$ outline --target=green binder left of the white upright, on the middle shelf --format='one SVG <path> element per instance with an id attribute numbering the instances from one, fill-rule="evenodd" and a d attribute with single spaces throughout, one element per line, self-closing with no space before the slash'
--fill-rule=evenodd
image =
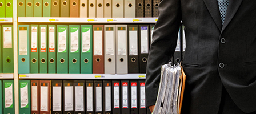
<path id="1" fill-rule="evenodd" d="M 14 72 L 14 56 L 13 56 L 13 25 L 3 25 L 2 36 L 2 64 L 3 73 Z"/>

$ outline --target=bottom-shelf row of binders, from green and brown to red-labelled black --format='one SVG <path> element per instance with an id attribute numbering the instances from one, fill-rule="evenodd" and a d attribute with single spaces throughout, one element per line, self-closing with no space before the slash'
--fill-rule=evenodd
<path id="1" fill-rule="evenodd" d="M 23 114 L 146 114 L 145 98 L 144 80 L 19 80 Z"/>

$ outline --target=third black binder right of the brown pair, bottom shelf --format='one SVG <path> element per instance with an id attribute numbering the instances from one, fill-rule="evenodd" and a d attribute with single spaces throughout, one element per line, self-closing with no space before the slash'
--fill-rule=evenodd
<path id="1" fill-rule="evenodd" d="M 85 81 L 84 80 L 75 80 L 74 81 L 75 89 L 75 114 L 85 114 Z"/>

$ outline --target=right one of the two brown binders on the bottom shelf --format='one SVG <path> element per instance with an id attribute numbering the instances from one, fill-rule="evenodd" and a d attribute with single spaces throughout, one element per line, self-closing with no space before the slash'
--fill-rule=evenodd
<path id="1" fill-rule="evenodd" d="M 40 114 L 51 113 L 51 81 L 40 80 Z"/>

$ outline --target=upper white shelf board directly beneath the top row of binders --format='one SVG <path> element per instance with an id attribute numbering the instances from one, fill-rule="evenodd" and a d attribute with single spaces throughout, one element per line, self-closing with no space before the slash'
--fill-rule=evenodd
<path id="1" fill-rule="evenodd" d="M 54 23 L 155 23 L 158 18 L 54 18 L 19 17 L 18 22 L 54 22 Z"/>

